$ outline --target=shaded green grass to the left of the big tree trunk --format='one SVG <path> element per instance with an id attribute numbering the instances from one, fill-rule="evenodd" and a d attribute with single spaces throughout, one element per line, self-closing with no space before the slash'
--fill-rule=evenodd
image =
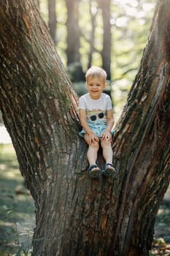
<path id="1" fill-rule="evenodd" d="M 0 145 L 0 195 L 0 255 L 28 255 L 35 207 L 12 144 Z"/>

